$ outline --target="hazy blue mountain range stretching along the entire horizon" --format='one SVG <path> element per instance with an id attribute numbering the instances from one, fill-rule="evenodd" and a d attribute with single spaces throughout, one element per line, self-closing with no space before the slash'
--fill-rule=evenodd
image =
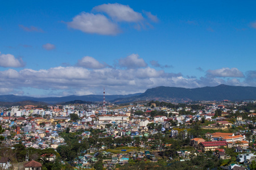
<path id="1" fill-rule="evenodd" d="M 171 103 L 184 103 L 185 101 L 241 101 L 241 100 L 255 100 L 256 87 L 242 87 L 242 86 L 227 86 L 221 84 L 216 87 L 201 87 L 201 88 L 180 88 L 180 87 L 155 87 L 146 90 L 142 94 L 131 95 L 106 95 L 106 101 L 112 103 L 127 103 L 142 100 L 159 100 Z M 2 95 L 1 102 L 19 102 L 19 101 L 40 101 L 48 104 L 63 103 L 73 100 L 82 101 L 102 101 L 103 95 L 85 95 L 85 96 L 64 96 L 64 97 L 30 97 L 30 96 L 15 96 Z"/>

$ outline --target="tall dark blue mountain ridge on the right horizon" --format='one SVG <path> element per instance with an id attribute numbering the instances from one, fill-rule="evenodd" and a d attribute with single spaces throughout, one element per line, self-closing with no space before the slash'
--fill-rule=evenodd
<path id="1" fill-rule="evenodd" d="M 221 84 L 216 87 L 201 88 L 180 88 L 180 87 L 155 87 L 150 88 L 139 96 L 133 96 L 125 99 L 117 99 L 113 102 L 125 103 L 139 100 L 159 100 L 174 103 L 183 103 L 185 101 L 241 101 L 256 100 L 256 87 L 227 86 Z"/>

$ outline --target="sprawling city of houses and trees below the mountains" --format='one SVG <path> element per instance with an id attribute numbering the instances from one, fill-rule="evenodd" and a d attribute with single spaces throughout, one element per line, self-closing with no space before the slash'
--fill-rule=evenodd
<path id="1" fill-rule="evenodd" d="M 1 107 L 2 148 L 22 145 L 27 152 L 22 162 L 1 155 L 0 166 L 43 169 L 46 161 L 59 159 L 61 169 L 122 169 L 145 161 L 164 162 L 164 167 L 171 168 L 199 156 L 214 156 L 217 168 L 250 169 L 256 165 L 256 113 L 248 110 L 249 103 L 255 107 L 254 101 L 200 101 L 172 107 L 154 101 L 108 103 L 106 110 L 102 104 Z M 80 146 L 72 159 L 64 158 L 62 150 L 72 145 L 67 136 L 71 134 Z M 35 159 L 31 148 L 54 153 Z"/>

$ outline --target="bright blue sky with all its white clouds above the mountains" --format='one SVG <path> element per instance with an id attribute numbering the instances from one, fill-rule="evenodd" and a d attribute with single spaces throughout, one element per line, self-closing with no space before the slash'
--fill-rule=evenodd
<path id="1" fill-rule="evenodd" d="M 255 1 L 5 1 L 0 95 L 256 86 Z"/>

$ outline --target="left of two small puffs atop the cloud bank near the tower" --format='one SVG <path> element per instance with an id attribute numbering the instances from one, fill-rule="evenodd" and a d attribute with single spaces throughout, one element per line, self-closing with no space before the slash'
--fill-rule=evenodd
<path id="1" fill-rule="evenodd" d="M 85 56 L 77 62 L 77 66 L 85 67 L 88 69 L 102 69 L 104 64 L 98 62 L 96 59 L 90 56 Z"/>

